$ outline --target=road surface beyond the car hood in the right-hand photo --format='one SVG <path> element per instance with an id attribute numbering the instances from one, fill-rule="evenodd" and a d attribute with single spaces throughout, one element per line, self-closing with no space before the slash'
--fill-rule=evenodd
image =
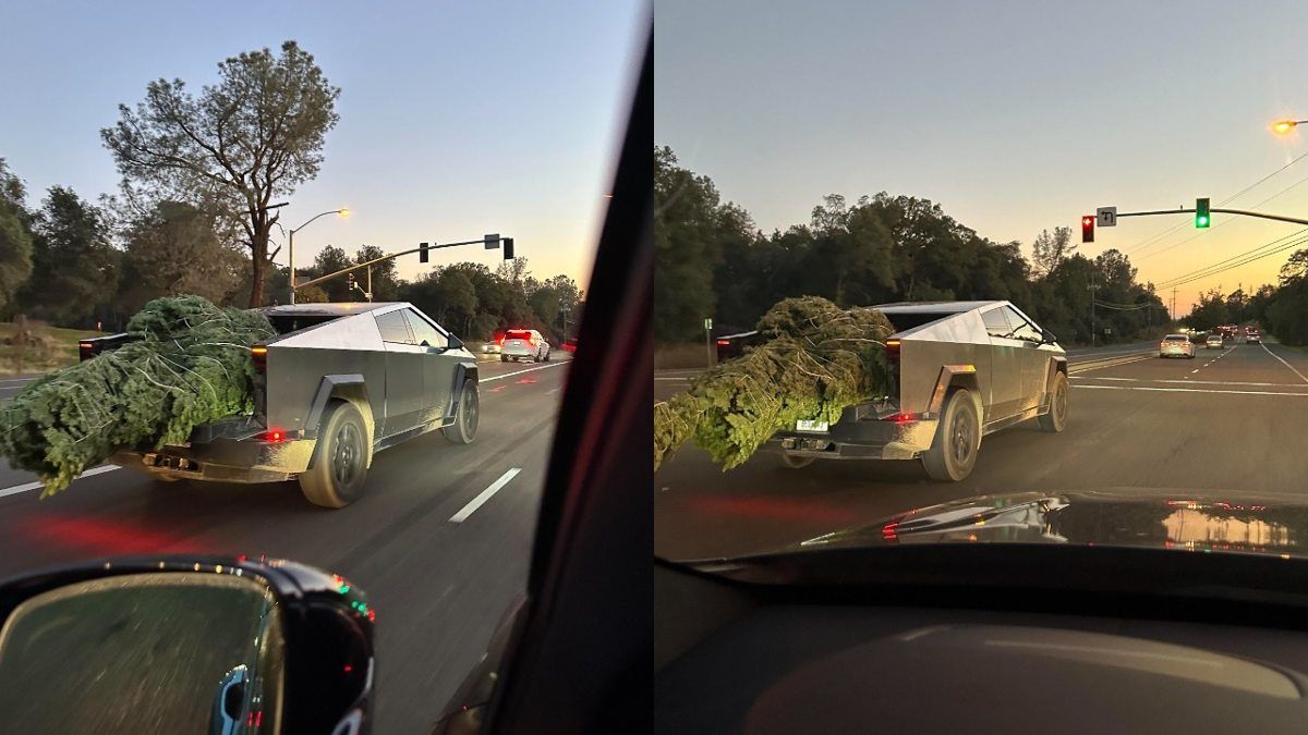
<path id="1" fill-rule="evenodd" d="M 1308 353 L 1283 345 L 1196 345 L 1158 357 L 1154 341 L 1069 356 L 1067 429 L 1033 422 L 982 441 L 963 483 L 933 483 L 917 462 L 818 462 L 760 453 L 723 473 L 687 446 L 654 476 L 655 552 L 708 558 L 765 552 L 956 498 L 1022 490 L 1177 488 L 1308 492 Z M 655 398 L 685 373 L 655 377 Z M 1308 500 L 1308 494 L 1305 494 Z"/>

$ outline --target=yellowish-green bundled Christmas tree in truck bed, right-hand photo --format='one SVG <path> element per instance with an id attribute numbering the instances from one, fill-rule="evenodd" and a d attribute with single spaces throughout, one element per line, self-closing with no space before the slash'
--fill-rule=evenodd
<path id="1" fill-rule="evenodd" d="M 795 421 L 835 424 L 845 408 L 889 388 L 884 340 L 893 330 L 879 311 L 787 298 L 759 330 L 766 341 L 654 405 L 655 470 L 688 439 L 730 470 Z"/>

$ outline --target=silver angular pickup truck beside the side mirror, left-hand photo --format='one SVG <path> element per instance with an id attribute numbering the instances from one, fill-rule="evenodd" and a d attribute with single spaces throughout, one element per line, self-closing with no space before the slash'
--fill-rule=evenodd
<path id="1" fill-rule="evenodd" d="M 314 505 L 343 507 L 362 496 L 377 453 L 437 429 L 454 443 L 476 438 L 476 356 L 413 305 L 256 311 L 277 336 L 251 348 L 254 412 L 196 426 L 184 446 L 124 450 L 111 463 L 160 480 L 298 480 Z"/>

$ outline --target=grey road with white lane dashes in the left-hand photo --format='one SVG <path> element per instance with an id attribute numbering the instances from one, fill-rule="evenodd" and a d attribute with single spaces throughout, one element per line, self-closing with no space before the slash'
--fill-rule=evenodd
<path id="1" fill-rule="evenodd" d="M 480 362 L 476 441 L 453 445 L 436 432 L 377 455 L 368 494 L 341 510 L 309 505 L 294 483 L 154 483 L 131 470 L 84 475 L 41 500 L 33 475 L 5 468 L 0 575 L 191 552 L 268 555 L 343 574 L 377 609 L 375 731 L 424 732 L 526 583 L 568 371 L 561 350 L 549 364 Z M 0 399 L 14 385 L 0 383 Z"/>

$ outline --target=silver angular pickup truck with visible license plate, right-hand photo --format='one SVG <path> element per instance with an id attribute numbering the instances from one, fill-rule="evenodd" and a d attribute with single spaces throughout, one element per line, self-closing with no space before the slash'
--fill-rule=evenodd
<path id="1" fill-rule="evenodd" d="M 895 327 L 886 340 L 892 395 L 846 408 L 840 421 L 799 421 L 769 447 L 786 467 L 835 459 L 921 460 L 933 480 L 972 473 L 982 437 L 1036 419 L 1067 422 L 1067 356 L 1053 333 L 1008 301 L 874 306 Z"/>

